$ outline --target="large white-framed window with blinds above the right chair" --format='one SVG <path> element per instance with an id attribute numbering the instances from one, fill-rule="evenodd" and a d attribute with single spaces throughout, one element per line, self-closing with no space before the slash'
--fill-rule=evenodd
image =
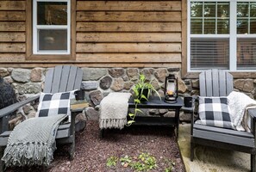
<path id="1" fill-rule="evenodd" d="M 256 0 L 188 1 L 188 71 L 256 70 Z"/>

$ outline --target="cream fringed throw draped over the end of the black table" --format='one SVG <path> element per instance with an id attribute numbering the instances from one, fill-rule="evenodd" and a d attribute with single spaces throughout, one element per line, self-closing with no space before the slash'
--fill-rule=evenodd
<path id="1" fill-rule="evenodd" d="M 99 126 L 122 129 L 127 124 L 128 99 L 130 93 L 109 93 L 100 104 Z"/>

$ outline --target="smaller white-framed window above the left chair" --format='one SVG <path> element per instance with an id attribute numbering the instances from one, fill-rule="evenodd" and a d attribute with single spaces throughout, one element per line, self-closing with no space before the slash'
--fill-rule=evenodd
<path id="1" fill-rule="evenodd" d="M 33 0 L 33 53 L 70 54 L 70 0 Z"/>

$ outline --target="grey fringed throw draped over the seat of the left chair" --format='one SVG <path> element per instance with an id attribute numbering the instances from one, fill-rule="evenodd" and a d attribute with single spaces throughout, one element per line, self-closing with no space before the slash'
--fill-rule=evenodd
<path id="1" fill-rule="evenodd" d="M 9 135 L 2 160 L 6 166 L 49 165 L 56 149 L 55 136 L 66 114 L 33 118 L 17 125 Z"/>

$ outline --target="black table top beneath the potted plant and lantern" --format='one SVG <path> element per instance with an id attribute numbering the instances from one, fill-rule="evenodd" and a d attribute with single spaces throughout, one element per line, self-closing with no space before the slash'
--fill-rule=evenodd
<path id="1" fill-rule="evenodd" d="M 130 98 L 128 101 L 129 107 L 134 107 L 134 98 Z M 142 101 L 138 104 L 138 108 L 180 108 L 184 106 L 183 99 L 178 97 L 177 102 L 168 103 L 165 102 L 165 98 L 161 97 L 161 100 L 158 96 L 150 96 L 148 101 Z"/>

